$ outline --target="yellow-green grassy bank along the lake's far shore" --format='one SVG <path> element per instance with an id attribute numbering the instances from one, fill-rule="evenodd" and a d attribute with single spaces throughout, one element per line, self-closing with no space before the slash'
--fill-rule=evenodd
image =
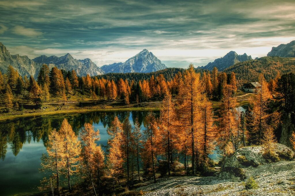
<path id="1" fill-rule="evenodd" d="M 240 95 L 238 93 L 238 95 Z M 246 95 L 241 98 L 237 98 L 237 101 L 240 106 L 248 104 L 248 98 L 252 96 Z M 18 100 L 19 103 L 22 103 L 23 100 Z M 91 111 L 150 111 L 150 110 L 160 110 L 161 101 L 154 102 L 145 102 L 145 103 L 131 103 L 129 106 L 126 106 L 122 101 L 116 102 L 107 102 L 107 101 L 97 101 L 95 106 L 83 106 L 80 107 L 78 102 L 88 103 L 93 102 L 88 95 L 71 95 L 68 96 L 67 103 L 63 105 L 61 98 L 53 97 L 50 98 L 50 101 L 42 105 L 42 109 L 32 110 L 24 109 L 23 111 L 18 111 L 11 109 L 9 113 L 0 113 L 0 120 L 26 117 L 26 116 L 38 116 L 38 115 L 52 115 L 58 113 L 83 113 Z M 213 108 L 219 108 L 220 102 L 212 101 Z M 44 108 L 46 107 L 46 108 Z M 0 110 L 4 107 L 0 107 Z"/>

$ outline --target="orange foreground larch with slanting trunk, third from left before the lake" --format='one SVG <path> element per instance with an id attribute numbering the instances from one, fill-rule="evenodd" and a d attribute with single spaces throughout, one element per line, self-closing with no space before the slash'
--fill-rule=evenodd
<path id="1" fill-rule="evenodd" d="M 83 163 L 82 166 L 82 173 L 84 174 L 84 177 L 89 182 L 89 187 L 92 188 L 94 195 L 97 196 L 93 181 L 93 176 L 96 176 L 96 162 L 94 161 L 94 154 L 96 152 L 96 141 L 98 141 L 99 138 L 99 130 L 94 131 L 94 126 L 92 126 L 89 123 L 85 123 L 83 128 L 80 132 L 80 138 L 81 138 L 81 162 Z"/>

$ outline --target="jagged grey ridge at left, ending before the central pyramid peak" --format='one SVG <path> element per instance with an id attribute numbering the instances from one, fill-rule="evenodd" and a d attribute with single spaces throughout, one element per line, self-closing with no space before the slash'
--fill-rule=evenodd
<path id="1" fill-rule="evenodd" d="M 77 60 L 68 53 L 62 57 L 41 55 L 31 60 L 27 56 L 11 55 L 0 42 L 0 71 L 2 73 L 6 73 L 8 65 L 12 65 L 20 75 L 32 75 L 37 78 L 42 64 L 47 64 L 49 69 L 56 66 L 67 71 L 75 70 L 79 76 L 104 74 L 90 59 Z"/>

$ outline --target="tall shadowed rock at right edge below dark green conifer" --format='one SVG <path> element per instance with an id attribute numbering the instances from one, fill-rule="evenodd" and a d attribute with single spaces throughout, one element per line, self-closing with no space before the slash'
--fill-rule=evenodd
<path id="1" fill-rule="evenodd" d="M 283 118 L 282 123 L 282 133 L 280 138 L 280 143 L 284 144 L 290 148 L 292 148 L 290 138 L 292 136 L 292 133 L 295 132 L 295 125 L 294 120 L 292 121 L 292 116 L 294 118 L 294 113 L 288 113 Z"/>

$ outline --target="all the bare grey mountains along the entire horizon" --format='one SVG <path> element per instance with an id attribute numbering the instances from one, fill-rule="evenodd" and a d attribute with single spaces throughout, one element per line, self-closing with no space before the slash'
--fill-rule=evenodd
<path id="1" fill-rule="evenodd" d="M 268 52 L 267 56 L 295 57 L 295 40 L 288 44 L 272 47 L 271 52 Z M 197 67 L 197 69 L 212 70 L 213 67 L 217 67 L 219 71 L 222 71 L 249 60 L 252 60 L 252 57 L 246 53 L 238 55 L 236 52 L 230 51 L 224 57 L 215 59 L 214 62 L 209 62 L 206 66 Z M 255 60 L 259 59 L 255 58 Z M 61 57 L 41 55 L 32 60 L 27 56 L 11 55 L 0 42 L 0 71 L 2 73 L 6 72 L 8 65 L 12 65 L 20 75 L 33 75 L 34 78 L 37 78 L 42 64 L 47 64 L 50 69 L 56 66 L 59 69 L 75 70 L 79 76 L 87 74 L 95 76 L 105 73 L 150 73 L 167 68 L 152 52 L 146 49 L 129 58 L 124 63 L 113 63 L 99 68 L 91 59 L 77 60 L 69 53 Z"/>

